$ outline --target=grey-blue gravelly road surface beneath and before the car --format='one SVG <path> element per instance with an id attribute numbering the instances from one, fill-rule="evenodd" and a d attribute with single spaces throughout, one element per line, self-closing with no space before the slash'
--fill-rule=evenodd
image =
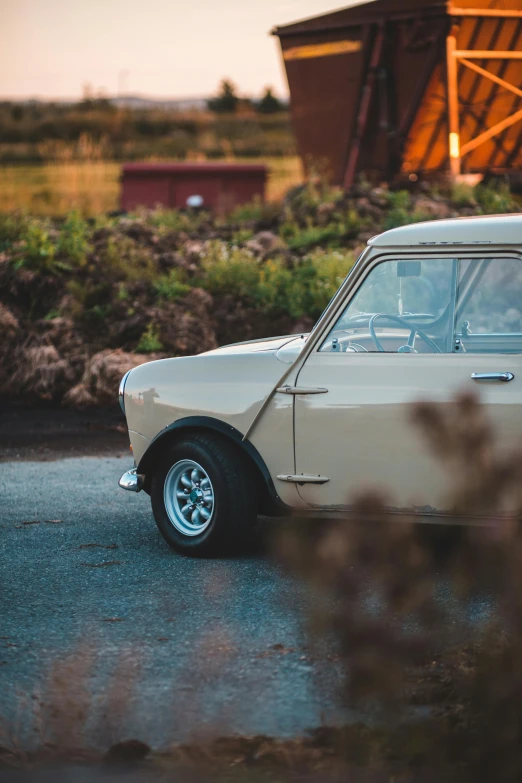
<path id="1" fill-rule="evenodd" d="M 0 464 L 1 712 L 17 736 L 39 736 L 42 711 L 68 699 L 102 747 L 293 736 L 341 719 L 335 666 L 305 646 L 302 588 L 262 547 L 171 552 L 148 496 L 118 489 L 128 466 Z"/>

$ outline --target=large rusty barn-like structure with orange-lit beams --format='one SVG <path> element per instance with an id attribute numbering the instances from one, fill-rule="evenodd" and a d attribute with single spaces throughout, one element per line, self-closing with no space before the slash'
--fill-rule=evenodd
<path id="1" fill-rule="evenodd" d="M 305 165 L 522 169 L 522 0 L 374 0 L 278 27 Z"/>

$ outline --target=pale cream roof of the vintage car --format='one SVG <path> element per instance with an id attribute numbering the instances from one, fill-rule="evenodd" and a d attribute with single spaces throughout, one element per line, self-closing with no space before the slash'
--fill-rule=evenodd
<path id="1" fill-rule="evenodd" d="M 432 220 L 392 228 L 373 239 L 373 247 L 398 245 L 522 245 L 522 214 Z"/>

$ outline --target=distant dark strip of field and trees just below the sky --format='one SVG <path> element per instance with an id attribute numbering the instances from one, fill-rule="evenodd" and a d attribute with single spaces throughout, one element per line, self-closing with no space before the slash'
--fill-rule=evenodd
<path id="1" fill-rule="evenodd" d="M 0 163 L 70 158 L 81 152 L 85 140 L 103 159 L 116 161 L 296 154 L 289 112 L 274 103 L 271 93 L 259 104 L 235 94 L 230 105 L 223 104 L 222 95 L 215 100 L 217 106 L 209 102 L 213 109 L 184 111 L 92 98 L 69 105 L 0 102 Z"/>

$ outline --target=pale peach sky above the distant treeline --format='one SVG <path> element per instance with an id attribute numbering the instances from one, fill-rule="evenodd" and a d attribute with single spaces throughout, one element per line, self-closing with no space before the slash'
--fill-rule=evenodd
<path id="1" fill-rule="evenodd" d="M 0 96 L 207 96 L 287 84 L 270 29 L 355 0 L 0 0 Z"/>

